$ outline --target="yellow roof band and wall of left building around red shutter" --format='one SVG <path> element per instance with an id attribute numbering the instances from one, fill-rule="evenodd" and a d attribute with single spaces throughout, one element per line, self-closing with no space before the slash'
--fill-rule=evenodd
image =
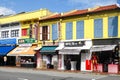
<path id="1" fill-rule="evenodd" d="M 47 9 L 40 9 L 32 12 L 20 13 L 16 15 L 3 16 L 0 18 L 0 24 L 11 23 L 11 22 L 20 22 L 21 29 L 29 29 L 30 24 L 34 24 L 34 20 L 39 20 L 46 15 L 52 14 Z M 24 24 L 26 21 L 31 21 L 31 23 Z M 34 26 L 33 26 L 34 27 Z M 29 38 L 29 34 L 22 36 L 21 38 Z"/>

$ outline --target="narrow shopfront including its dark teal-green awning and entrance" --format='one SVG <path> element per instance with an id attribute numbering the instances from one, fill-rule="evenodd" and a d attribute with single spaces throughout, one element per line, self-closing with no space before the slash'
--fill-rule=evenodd
<path id="1" fill-rule="evenodd" d="M 43 69 L 57 69 L 58 52 L 55 50 L 57 47 L 58 46 L 42 46 L 40 49 Z"/>

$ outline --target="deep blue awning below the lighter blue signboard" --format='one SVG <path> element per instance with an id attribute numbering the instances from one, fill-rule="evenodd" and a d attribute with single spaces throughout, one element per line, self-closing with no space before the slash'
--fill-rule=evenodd
<path id="1" fill-rule="evenodd" d="M 13 50 L 15 46 L 0 46 L 0 56 L 7 55 L 8 52 Z"/>

